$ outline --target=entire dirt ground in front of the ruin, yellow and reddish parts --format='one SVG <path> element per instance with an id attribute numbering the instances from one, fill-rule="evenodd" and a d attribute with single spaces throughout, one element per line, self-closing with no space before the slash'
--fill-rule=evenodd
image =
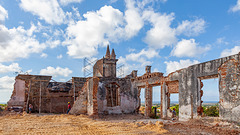
<path id="1" fill-rule="evenodd" d="M 0 116 L 0 134 L 233 134 L 238 127 L 221 122 L 193 120 L 177 122 L 149 119 L 142 115 L 7 114 Z"/>

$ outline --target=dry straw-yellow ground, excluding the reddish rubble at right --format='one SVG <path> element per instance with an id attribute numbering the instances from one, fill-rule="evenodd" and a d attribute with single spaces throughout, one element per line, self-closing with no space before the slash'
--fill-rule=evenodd
<path id="1" fill-rule="evenodd" d="M 161 123 L 144 124 L 94 120 L 85 115 L 0 116 L 0 134 L 131 135 L 167 133 Z"/>

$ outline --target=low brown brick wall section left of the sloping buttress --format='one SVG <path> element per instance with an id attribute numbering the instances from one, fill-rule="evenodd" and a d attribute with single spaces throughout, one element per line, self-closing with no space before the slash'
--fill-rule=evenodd
<path id="1" fill-rule="evenodd" d="M 67 103 L 70 102 L 71 105 L 74 103 L 74 95 L 78 96 L 78 91 L 86 79 L 73 78 L 75 94 L 74 87 L 71 87 L 69 91 L 64 91 L 65 86 L 61 86 L 64 87 L 61 91 L 52 90 L 48 86 L 50 80 L 51 76 L 18 75 L 8 107 L 21 106 L 24 110 L 28 110 L 27 106 L 32 104 L 33 112 L 66 113 Z M 21 93 L 21 97 L 18 93 Z"/>

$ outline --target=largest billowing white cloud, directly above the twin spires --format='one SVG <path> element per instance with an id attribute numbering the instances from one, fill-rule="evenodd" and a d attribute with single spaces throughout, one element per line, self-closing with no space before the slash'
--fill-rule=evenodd
<path id="1" fill-rule="evenodd" d="M 125 0 L 123 13 L 112 6 L 83 14 L 83 19 L 72 22 L 66 29 L 67 54 L 74 58 L 92 57 L 99 47 L 110 42 L 128 40 L 136 36 L 144 22 L 141 11 L 133 0 Z"/>

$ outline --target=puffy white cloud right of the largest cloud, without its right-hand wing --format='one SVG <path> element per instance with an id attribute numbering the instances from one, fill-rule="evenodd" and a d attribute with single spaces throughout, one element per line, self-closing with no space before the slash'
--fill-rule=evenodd
<path id="1" fill-rule="evenodd" d="M 174 14 L 160 14 L 153 11 L 144 11 L 143 18 L 152 23 L 144 41 L 153 48 L 161 49 L 177 42 L 176 32 L 170 27 Z"/>

